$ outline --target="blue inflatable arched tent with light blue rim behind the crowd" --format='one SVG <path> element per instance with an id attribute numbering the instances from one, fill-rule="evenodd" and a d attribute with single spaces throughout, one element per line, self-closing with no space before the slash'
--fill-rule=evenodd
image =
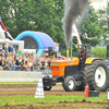
<path id="1" fill-rule="evenodd" d="M 24 49 L 36 49 L 38 57 L 40 57 L 43 50 L 48 49 L 48 47 L 55 47 L 55 49 L 57 49 L 52 38 L 40 32 L 25 31 L 21 33 L 15 40 L 24 40 Z"/>

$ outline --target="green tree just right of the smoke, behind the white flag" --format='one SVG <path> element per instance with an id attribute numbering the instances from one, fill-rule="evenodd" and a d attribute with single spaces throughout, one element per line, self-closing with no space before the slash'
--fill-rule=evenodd
<path id="1" fill-rule="evenodd" d="M 88 15 L 82 20 L 80 28 L 83 44 L 96 46 L 101 43 L 104 29 L 99 27 L 99 15 L 93 7 L 89 7 Z"/>

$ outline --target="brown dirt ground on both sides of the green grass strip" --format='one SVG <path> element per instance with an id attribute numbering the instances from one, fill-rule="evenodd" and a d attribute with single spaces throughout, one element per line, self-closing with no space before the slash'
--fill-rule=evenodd
<path id="1" fill-rule="evenodd" d="M 14 85 L 0 85 L 0 96 L 24 96 L 24 95 L 35 95 L 37 85 L 35 84 L 14 84 Z M 106 95 L 107 93 L 100 93 L 100 95 Z M 83 95 L 83 92 L 64 92 L 61 84 L 57 84 L 51 88 L 50 92 L 45 92 L 45 95 L 57 95 L 57 96 L 63 96 L 63 95 Z M 75 108 L 84 107 L 84 108 Z M 108 109 L 105 107 L 108 107 L 109 102 L 92 102 L 86 101 L 83 99 L 83 101 L 60 101 L 58 104 L 35 104 L 35 105 L 16 105 L 16 106 L 10 106 L 5 104 L 4 106 L 0 106 L 0 109 Z M 87 108 L 88 107 L 88 108 Z M 97 108 L 99 107 L 99 108 Z"/>

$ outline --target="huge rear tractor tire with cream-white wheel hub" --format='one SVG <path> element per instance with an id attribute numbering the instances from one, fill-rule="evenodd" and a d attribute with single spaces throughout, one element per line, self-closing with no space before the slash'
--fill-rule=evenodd
<path id="1" fill-rule="evenodd" d="M 105 92 L 109 86 L 108 66 L 102 60 L 95 60 L 90 65 L 86 65 L 83 72 L 84 87 L 86 83 L 89 89 Z"/>

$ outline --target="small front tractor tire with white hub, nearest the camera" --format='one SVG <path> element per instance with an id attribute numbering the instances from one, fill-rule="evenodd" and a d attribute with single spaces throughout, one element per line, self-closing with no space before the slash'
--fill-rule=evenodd
<path id="1" fill-rule="evenodd" d="M 64 82 L 62 83 L 63 88 L 65 92 L 73 92 L 75 88 L 75 81 L 73 76 L 68 76 L 64 78 Z"/>

